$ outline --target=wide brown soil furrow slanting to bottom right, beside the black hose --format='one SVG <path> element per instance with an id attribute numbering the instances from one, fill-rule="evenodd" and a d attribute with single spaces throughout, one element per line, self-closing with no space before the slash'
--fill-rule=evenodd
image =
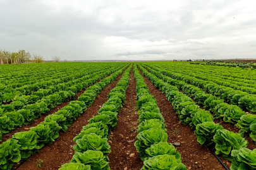
<path id="1" fill-rule="evenodd" d="M 176 149 L 180 152 L 181 160 L 187 166 L 187 169 L 224 169 L 210 150 L 197 142 L 197 137 L 194 135 L 193 130 L 188 125 L 181 124 L 178 115 L 176 115 L 166 96 L 159 89 L 156 89 L 149 79 L 145 76 L 143 78 L 150 93 L 157 100 L 157 106 L 159 106 L 165 123 L 168 125 L 166 127 L 168 130 L 168 142 L 172 144 L 179 142 L 181 144 Z M 176 133 L 176 130 L 180 130 L 180 132 Z"/>

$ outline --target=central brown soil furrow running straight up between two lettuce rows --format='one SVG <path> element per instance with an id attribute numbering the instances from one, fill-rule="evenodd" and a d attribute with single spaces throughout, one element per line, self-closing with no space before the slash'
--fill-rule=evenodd
<path id="1" fill-rule="evenodd" d="M 109 140 L 109 145 L 111 145 L 109 166 L 111 169 L 141 169 L 143 166 L 140 155 L 134 146 L 138 128 L 135 88 L 134 74 L 131 70 L 125 104 L 118 114 L 118 124 L 111 132 L 113 139 Z"/>

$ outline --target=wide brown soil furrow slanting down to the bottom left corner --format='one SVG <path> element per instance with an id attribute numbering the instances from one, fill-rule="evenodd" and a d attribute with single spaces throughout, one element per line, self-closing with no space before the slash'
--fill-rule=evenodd
<path id="1" fill-rule="evenodd" d="M 127 68 L 126 68 L 127 69 Z M 52 144 L 44 146 L 39 150 L 38 153 L 30 156 L 27 161 L 25 161 L 19 170 L 34 170 L 34 169 L 59 169 L 61 165 L 70 162 L 74 150 L 72 149 L 75 142 L 73 138 L 80 133 L 82 127 L 88 124 L 88 120 L 93 116 L 97 115 L 97 111 L 101 106 L 107 101 L 107 94 L 116 86 L 116 83 L 121 79 L 121 75 L 117 77 L 114 82 L 111 82 L 108 86 L 102 89 L 101 93 L 96 96 L 94 103 L 83 111 L 83 114 L 76 118 L 76 121 L 68 127 L 66 132 L 59 132 L 59 138 L 56 139 Z M 39 159 L 43 160 L 42 167 L 37 167 L 37 162 Z"/>

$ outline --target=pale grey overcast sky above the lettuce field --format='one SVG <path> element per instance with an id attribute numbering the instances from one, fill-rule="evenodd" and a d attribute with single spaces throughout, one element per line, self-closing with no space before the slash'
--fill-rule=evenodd
<path id="1" fill-rule="evenodd" d="M 67 60 L 256 58 L 255 0 L 0 0 L 0 48 Z"/>

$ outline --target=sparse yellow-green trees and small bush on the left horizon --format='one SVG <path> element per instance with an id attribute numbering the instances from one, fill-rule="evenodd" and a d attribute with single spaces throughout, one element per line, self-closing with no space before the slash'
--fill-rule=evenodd
<path id="1" fill-rule="evenodd" d="M 52 57 L 54 62 L 59 62 L 61 57 Z M 0 49 L 0 64 L 22 64 L 27 62 L 43 62 L 44 57 L 42 55 L 30 54 L 25 50 L 18 50 L 18 52 L 9 52 L 8 50 Z"/>

